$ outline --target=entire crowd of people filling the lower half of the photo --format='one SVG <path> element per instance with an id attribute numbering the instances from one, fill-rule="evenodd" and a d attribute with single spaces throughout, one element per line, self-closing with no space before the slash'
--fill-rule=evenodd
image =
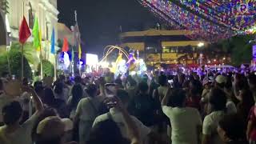
<path id="1" fill-rule="evenodd" d="M 1 144 L 254 144 L 256 75 L 0 79 Z"/>

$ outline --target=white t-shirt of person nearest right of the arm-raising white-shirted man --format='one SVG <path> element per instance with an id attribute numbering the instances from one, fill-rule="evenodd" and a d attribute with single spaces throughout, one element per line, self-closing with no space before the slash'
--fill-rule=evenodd
<path id="1" fill-rule="evenodd" d="M 214 111 L 208 115 L 206 115 L 206 118 L 203 121 L 202 124 L 202 134 L 210 135 L 211 144 L 220 144 L 222 143 L 221 138 L 218 136 L 217 127 L 218 122 L 220 119 L 224 116 L 225 112 L 220 111 Z"/>

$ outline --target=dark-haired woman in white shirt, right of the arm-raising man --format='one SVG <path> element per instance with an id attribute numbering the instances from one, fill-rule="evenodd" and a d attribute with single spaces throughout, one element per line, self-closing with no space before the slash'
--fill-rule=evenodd
<path id="1" fill-rule="evenodd" d="M 222 143 L 218 136 L 218 122 L 226 113 L 226 95 L 223 90 L 214 88 L 209 94 L 210 114 L 202 124 L 202 144 Z"/>

